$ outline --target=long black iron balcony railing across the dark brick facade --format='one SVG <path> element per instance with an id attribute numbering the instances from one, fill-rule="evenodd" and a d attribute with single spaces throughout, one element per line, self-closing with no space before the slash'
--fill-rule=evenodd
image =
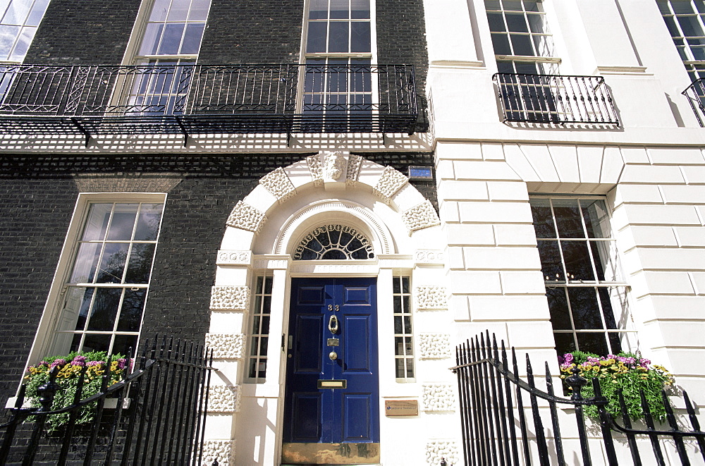
<path id="1" fill-rule="evenodd" d="M 4 134 L 414 133 L 410 65 L 0 65 Z"/>

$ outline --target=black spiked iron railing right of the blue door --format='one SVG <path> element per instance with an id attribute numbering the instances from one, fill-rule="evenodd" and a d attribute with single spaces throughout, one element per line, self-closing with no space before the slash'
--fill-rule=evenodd
<path id="1" fill-rule="evenodd" d="M 678 460 L 682 465 L 703 464 L 700 459 L 705 462 L 705 431 L 700 428 L 687 393 L 683 392 L 685 413 L 682 416 L 687 420 L 680 421 L 689 422 L 692 429 L 681 427 L 665 393 L 663 405 L 668 426 L 658 427 L 654 423 L 642 393 L 646 428 L 635 429 L 623 399 L 622 419 L 615 419 L 607 412 L 608 401 L 601 396 L 598 379 L 592 380 L 596 396 L 583 398 L 580 391 L 587 380 L 578 375 L 579 369 L 574 369 L 573 375 L 566 379 L 572 396 L 562 398 L 554 393 L 548 363 L 547 390 L 541 391 L 534 382 L 529 356 L 524 381 L 514 348 L 511 352 L 512 362 L 509 362 L 504 342 L 498 348 L 494 335 L 490 341 L 489 332 L 455 350 L 457 365 L 451 370 L 458 376 L 465 465 L 529 466 L 533 461 L 541 466 L 618 466 L 627 464 L 631 458 L 632 464 L 640 466 L 642 454 L 653 458 L 653 462 L 644 458 L 644 464 L 665 466 Z M 584 407 L 589 405 L 596 407 L 599 413 L 593 425 L 584 419 Z M 574 433 L 563 434 L 568 431 Z M 690 443 L 689 449 L 686 443 Z M 578 445 L 580 448 L 575 448 Z M 668 453 L 664 453 L 666 448 Z M 651 453 L 644 453 L 644 450 L 651 450 Z M 599 458 L 593 458 L 596 453 Z"/>

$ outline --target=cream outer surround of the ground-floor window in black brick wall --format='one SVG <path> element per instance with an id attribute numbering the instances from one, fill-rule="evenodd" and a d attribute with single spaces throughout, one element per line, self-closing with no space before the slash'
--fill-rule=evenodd
<path id="1" fill-rule="evenodd" d="M 56 267 L 56 273 L 54 274 L 54 280 L 51 283 L 51 288 L 49 288 L 49 295 L 47 297 L 47 302 L 44 305 L 42 318 L 39 320 L 35 341 L 32 343 L 30 356 L 27 360 L 27 367 L 31 364 L 39 362 L 42 360 L 42 357 L 49 356 L 47 352 L 53 344 L 54 330 L 56 329 L 59 319 L 61 318 L 61 306 L 66 293 L 66 281 L 68 281 L 71 275 L 73 261 L 76 253 L 78 252 L 78 240 L 80 240 L 91 204 L 102 202 L 154 202 L 164 203 L 166 206 L 166 194 L 159 192 L 82 192 L 78 195 L 78 200 L 76 201 L 73 209 L 71 223 L 68 226 L 68 232 L 66 233 L 66 238 L 64 239 L 63 247 L 61 248 L 59 264 Z M 164 219 L 164 214 L 162 214 L 162 219 Z M 161 227 L 159 233 L 161 233 Z M 157 248 L 155 248 L 155 255 L 157 254 L 157 250 L 159 248 L 159 233 L 157 235 Z M 152 269 L 152 273 L 153 271 L 154 270 Z M 147 290 L 149 290 L 149 288 L 147 288 Z M 149 293 L 147 293 L 145 306 L 147 300 L 149 300 Z M 142 317 L 142 324 L 143 323 L 144 316 Z M 137 335 L 138 342 L 140 341 L 141 332 L 142 325 L 140 324 L 140 333 Z"/>

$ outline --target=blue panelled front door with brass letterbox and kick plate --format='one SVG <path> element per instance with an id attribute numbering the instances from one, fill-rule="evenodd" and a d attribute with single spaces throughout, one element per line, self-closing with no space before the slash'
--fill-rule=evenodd
<path id="1" fill-rule="evenodd" d="M 283 462 L 379 458 L 376 331 L 376 278 L 293 278 Z"/>

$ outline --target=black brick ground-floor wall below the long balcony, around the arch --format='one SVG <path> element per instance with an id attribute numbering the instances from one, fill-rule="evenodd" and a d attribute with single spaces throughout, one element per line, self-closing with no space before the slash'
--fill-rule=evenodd
<path id="1" fill-rule="evenodd" d="M 259 178 L 307 154 L 201 156 L 6 156 L 0 159 L 0 403 L 12 396 L 35 338 L 79 193 L 76 176 L 104 191 L 168 190 L 143 338 L 202 341 L 209 328 L 216 252 L 231 210 Z M 407 172 L 432 154 L 361 154 Z M 133 174 L 130 174 L 133 173 Z M 152 180 L 152 181 L 150 181 Z M 131 183 L 131 184 L 130 184 Z M 146 184 L 145 184 L 146 183 Z M 433 182 L 415 182 L 437 204 Z"/>

